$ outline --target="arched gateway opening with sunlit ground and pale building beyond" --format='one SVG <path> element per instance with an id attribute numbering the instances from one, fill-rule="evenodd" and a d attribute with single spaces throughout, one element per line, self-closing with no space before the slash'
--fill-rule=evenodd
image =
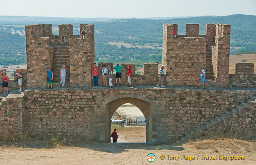
<path id="1" fill-rule="evenodd" d="M 135 105 L 121 105 L 111 118 L 111 132 L 117 129 L 117 142 L 146 142 L 146 118 Z M 111 142 L 113 138 L 111 137 Z"/>

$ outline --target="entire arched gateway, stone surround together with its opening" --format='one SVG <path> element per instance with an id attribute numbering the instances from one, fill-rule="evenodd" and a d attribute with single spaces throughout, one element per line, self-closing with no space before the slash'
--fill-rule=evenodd
<path id="1" fill-rule="evenodd" d="M 130 103 L 130 104 L 126 104 L 126 103 Z M 125 107 L 127 105 L 132 106 L 132 108 L 134 108 L 134 110 L 129 111 L 128 107 Z M 118 99 L 108 102 L 106 104 L 106 114 L 107 115 L 106 115 L 105 141 L 111 142 L 111 134 L 115 129 L 114 127 L 117 127 L 117 125 L 112 124 L 113 122 L 111 119 L 115 119 L 115 111 L 117 111 L 117 109 L 119 107 L 121 107 L 120 109 L 123 109 L 123 113 L 125 113 L 125 111 L 126 111 L 126 114 L 129 114 L 129 116 L 126 115 L 126 117 L 130 117 L 130 118 L 128 118 L 128 121 L 126 121 L 126 117 L 120 118 L 120 119 L 123 119 L 123 121 L 125 120 L 124 126 L 125 126 L 125 124 L 127 124 L 127 122 L 129 122 L 130 128 L 127 126 L 125 126 L 124 128 L 120 128 L 121 123 L 119 123 L 119 126 L 117 128 L 117 129 L 120 129 L 119 133 L 121 133 L 120 134 L 121 136 L 119 136 L 119 137 L 126 138 L 128 142 L 151 142 L 151 139 L 152 139 L 152 109 L 151 109 L 152 105 L 148 101 L 144 101 L 144 100 L 141 100 L 138 98 L 118 98 Z M 120 111 L 120 110 L 118 110 L 118 111 Z M 134 112 L 132 112 L 132 111 L 134 111 Z M 134 113 L 134 115 L 133 115 L 133 113 Z M 145 120 L 143 120 L 143 118 L 139 118 L 139 117 L 144 117 Z M 116 119 L 117 119 L 117 113 L 116 113 Z M 143 132 L 138 133 L 138 136 L 141 137 L 140 141 L 139 140 L 131 140 L 133 134 L 130 135 L 131 136 L 131 138 L 130 138 L 130 137 L 128 137 L 128 132 L 138 129 L 136 127 L 137 127 L 138 122 L 141 123 L 141 120 L 142 120 L 142 123 L 144 123 L 144 121 L 145 121 L 145 126 L 142 126 L 139 128 L 141 130 L 145 129 L 145 134 L 143 135 Z M 111 125 L 112 125 L 112 128 L 111 128 Z M 141 125 L 141 124 L 138 124 L 138 126 L 139 125 Z M 129 129 L 127 129 L 127 128 L 129 128 Z M 134 132 L 137 132 L 137 131 L 133 131 L 133 133 Z M 121 141 L 119 141 L 119 142 L 121 142 Z"/>

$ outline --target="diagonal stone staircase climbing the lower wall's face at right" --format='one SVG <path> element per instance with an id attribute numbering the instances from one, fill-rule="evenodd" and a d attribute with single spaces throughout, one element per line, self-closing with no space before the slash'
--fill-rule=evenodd
<path id="1" fill-rule="evenodd" d="M 226 111 L 220 116 L 215 116 L 215 118 L 211 118 L 211 120 L 206 121 L 204 125 L 197 126 L 195 130 L 191 130 L 190 133 L 186 133 L 184 136 L 181 137 L 181 140 L 177 140 L 176 142 L 180 143 L 181 141 L 185 141 L 187 138 L 190 138 L 193 134 L 197 132 L 205 132 L 205 134 L 209 134 L 210 131 L 220 131 L 219 126 L 227 123 L 230 117 L 245 113 L 246 109 L 249 109 L 250 106 L 256 106 L 256 96 L 248 99 L 247 102 L 242 102 L 242 104 L 236 105 L 235 108 L 231 108 L 231 111 Z"/>

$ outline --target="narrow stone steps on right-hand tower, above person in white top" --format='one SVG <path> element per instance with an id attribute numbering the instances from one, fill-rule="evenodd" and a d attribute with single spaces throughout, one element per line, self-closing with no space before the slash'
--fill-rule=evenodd
<path id="1" fill-rule="evenodd" d="M 213 77 L 213 67 L 212 67 L 212 46 L 206 46 L 206 71 L 205 71 L 205 79 L 206 80 L 215 80 Z"/>

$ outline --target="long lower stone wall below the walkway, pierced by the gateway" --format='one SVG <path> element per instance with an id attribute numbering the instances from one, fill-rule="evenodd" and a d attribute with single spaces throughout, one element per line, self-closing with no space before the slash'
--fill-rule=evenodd
<path id="1" fill-rule="evenodd" d="M 145 115 L 149 136 L 147 141 L 165 143 L 179 140 L 212 118 L 231 111 L 236 105 L 256 96 L 256 91 L 83 88 L 53 91 L 32 89 L 24 94 L 2 101 L 0 127 L 6 128 L 0 131 L 2 138 L 7 138 L 8 132 L 20 132 L 23 128 L 32 134 L 66 132 L 84 141 L 108 142 L 109 118 L 118 106 L 131 103 Z M 216 129 L 254 128 L 255 108 L 255 105 L 248 106 L 229 115 L 229 120 L 221 121 Z M 13 109 L 13 112 L 9 109 Z M 16 126 L 12 121 L 17 122 Z"/>

